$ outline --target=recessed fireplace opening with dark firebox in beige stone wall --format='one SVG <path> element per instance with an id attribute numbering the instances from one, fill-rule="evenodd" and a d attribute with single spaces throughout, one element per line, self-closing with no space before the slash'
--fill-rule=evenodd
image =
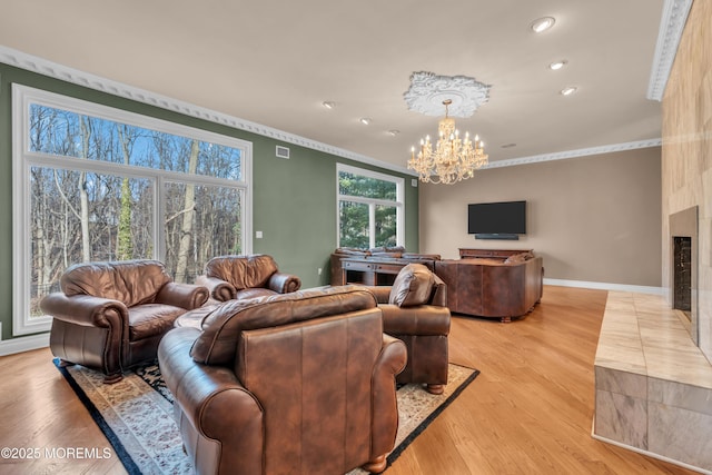
<path id="1" fill-rule="evenodd" d="M 670 290 L 672 308 L 690 323 L 698 339 L 698 207 L 670 215 Z"/>

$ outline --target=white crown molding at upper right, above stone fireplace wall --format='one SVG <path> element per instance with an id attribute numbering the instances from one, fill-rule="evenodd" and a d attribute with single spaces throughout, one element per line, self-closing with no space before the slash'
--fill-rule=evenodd
<path id="1" fill-rule="evenodd" d="M 692 0 L 665 0 L 647 85 L 647 99 L 662 101 Z"/>

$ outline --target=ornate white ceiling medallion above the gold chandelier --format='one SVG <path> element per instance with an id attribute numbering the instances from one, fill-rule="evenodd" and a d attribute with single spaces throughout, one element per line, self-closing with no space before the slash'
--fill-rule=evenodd
<path id="1" fill-rule="evenodd" d="M 436 76 L 433 72 L 414 72 L 411 87 L 403 97 L 408 110 L 426 116 L 445 115 L 443 101 L 452 100 L 449 117 L 471 117 L 479 106 L 490 100 L 491 86 L 467 76 Z"/>

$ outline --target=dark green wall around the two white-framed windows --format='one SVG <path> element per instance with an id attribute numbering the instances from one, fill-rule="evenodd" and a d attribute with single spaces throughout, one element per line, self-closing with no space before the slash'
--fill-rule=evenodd
<path id="1" fill-rule="evenodd" d="M 44 89 L 253 142 L 253 253 L 274 256 L 281 271 L 296 274 L 301 278 L 303 288 L 329 283 L 329 256 L 336 248 L 337 239 L 336 165 L 339 162 L 405 179 L 405 246 L 409 251 L 418 250 L 418 188 L 411 186 L 413 177 L 409 175 L 0 63 L 0 321 L 3 340 L 12 338 L 12 83 Z M 289 159 L 275 156 L 277 145 L 290 149 Z M 263 231 L 263 238 L 256 239 L 254 231 Z M 317 274 L 318 268 L 322 268 L 320 276 Z"/>

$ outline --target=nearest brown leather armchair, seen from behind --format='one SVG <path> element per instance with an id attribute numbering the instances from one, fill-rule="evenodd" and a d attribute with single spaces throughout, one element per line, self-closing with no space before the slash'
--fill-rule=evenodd
<path id="1" fill-rule="evenodd" d="M 160 343 L 198 474 L 344 474 L 386 466 L 403 343 L 354 286 L 231 300 Z"/>

